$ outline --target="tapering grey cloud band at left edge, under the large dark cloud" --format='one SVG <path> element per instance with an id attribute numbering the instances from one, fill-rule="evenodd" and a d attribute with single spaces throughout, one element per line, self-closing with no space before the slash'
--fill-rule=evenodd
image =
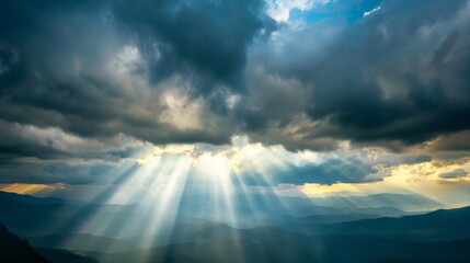
<path id="1" fill-rule="evenodd" d="M 113 163 L 119 159 L 131 158 L 142 149 L 142 142 L 125 136 L 87 139 L 58 128 L 38 128 L 0 121 L 0 165 L 21 165 L 28 162 L 41 165 L 77 160 Z"/>

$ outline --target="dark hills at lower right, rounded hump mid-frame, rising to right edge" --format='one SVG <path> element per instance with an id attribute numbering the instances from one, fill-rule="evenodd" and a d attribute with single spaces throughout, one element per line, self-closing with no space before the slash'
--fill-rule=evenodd
<path id="1" fill-rule="evenodd" d="M 185 243 L 102 255 L 102 262 L 470 262 L 470 207 L 402 218 L 314 225 L 306 235 L 276 227 L 206 222 Z M 321 230 L 321 231 L 320 231 Z M 131 260 L 133 259 L 133 260 Z"/>

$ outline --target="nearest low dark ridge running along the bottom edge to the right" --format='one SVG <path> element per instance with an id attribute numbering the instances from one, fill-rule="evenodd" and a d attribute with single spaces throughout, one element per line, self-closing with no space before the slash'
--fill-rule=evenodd
<path id="1" fill-rule="evenodd" d="M 470 260 L 470 239 L 412 242 L 367 237 L 330 236 L 283 241 L 203 241 L 170 244 L 127 253 L 95 254 L 102 263 L 118 262 L 432 262 L 465 263 Z"/>

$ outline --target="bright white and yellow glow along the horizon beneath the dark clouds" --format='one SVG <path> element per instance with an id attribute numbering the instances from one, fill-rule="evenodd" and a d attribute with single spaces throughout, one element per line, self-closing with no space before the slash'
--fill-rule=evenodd
<path id="1" fill-rule="evenodd" d="M 308 164 L 321 164 L 328 158 L 365 158 L 367 162 L 372 163 L 380 158 L 393 158 L 401 160 L 397 155 L 388 152 L 386 149 L 364 148 L 362 150 L 349 149 L 348 152 L 314 152 L 298 151 L 291 152 L 282 146 L 263 146 L 262 144 L 251 144 L 247 136 L 234 136 L 231 145 L 211 146 L 204 144 L 186 145 L 167 145 L 150 146 L 147 145 L 145 153 L 133 158 L 139 163 L 139 170 L 126 180 L 125 184 L 142 187 L 149 187 L 148 182 L 158 184 L 158 187 L 169 187 L 175 191 L 179 186 L 171 181 L 171 171 L 164 172 L 161 179 L 154 181 L 157 173 L 151 171 L 161 171 L 167 169 L 176 160 L 184 160 L 187 165 L 187 173 L 197 174 L 204 183 L 217 185 L 217 191 L 230 192 L 233 188 L 233 182 L 243 183 L 243 173 L 249 172 L 260 176 L 260 182 L 265 182 L 265 187 L 282 188 L 282 185 L 273 185 L 275 180 L 271 176 L 273 171 L 276 172 L 295 172 L 290 167 L 302 167 Z M 349 156 L 348 156 L 349 155 Z M 397 161 L 399 162 L 399 161 Z M 380 163 L 380 162 L 378 162 Z M 172 164 L 173 165 L 173 164 Z M 170 165 L 171 167 L 171 165 Z M 174 169 L 174 168 L 173 168 Z M 462 158 L 458 160 L 432 160 L 412 164 L 378 164 L 379 174 L 377 179 L 381 181 L 364 183 L 334 183 L 332 185 L 309 183 L 305 185 L 293 185 L 296 191 L 309 197 L 328 197 L 328 196 L 348 196 L 348 195 L 370 195 L 380 193 L 398 194 L 420 194 L 444 199 L 450 204 L 454 197 L 465 193 L 466 188 L 470 190 L 470 174 L 455 178 L 445 178 L 443 174 L 451 173 L 456 169 L 470 171 L 470 159 Z M 375 174 L 375 175 L 377 175 Z M 237 178 L 241 175 L 240 178 Z M 374 176 L 375 176 L 374 175 Z M 381 178 L 385 175 L 383 178 Z M 169 178 L 170 176 L 170 178 Z M 236 176 L 236 178 L 233 178 Z M 314 174 L 310 175 L 312 180 Z M 372 179 L 372 178 L 370 178 Z M 185 180 L 177 182 L 181 184 Z M 173 182 L 169 184 L 169 182 Z M 167 185 L 167 186 L 165 186 Z M 157 186 L 157 185 L 156 185 Z M 45 184 L 0 184 L 0 191 L 36 194 L 51 193 L 57 190 L 57 185 Z M 125 191 L 126 187 L 115 193 L 111 201 L 125 203 L 127 194 L 131 191 Z M 459 193 L 452 192 L 460 191 Z M 48 191 L 48 192 L 47 192 Z M 129 193 L 128 193 L 129 192 Z M 280 193 L 280 191 L 279 191 Z M 287 193 L 287 192 L 285 192 Z M 230 198 L 230 195 L 225 196 Z M 457 198 L 457 197 L 456 197 Z M 462 198 L 466 199 L 466 198 Z M 225 202 L 230 203 L 229 199 Z"/>

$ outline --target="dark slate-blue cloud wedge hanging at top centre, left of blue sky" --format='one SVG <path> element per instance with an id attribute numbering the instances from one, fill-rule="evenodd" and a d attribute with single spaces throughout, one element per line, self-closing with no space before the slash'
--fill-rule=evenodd
<path id="1" fill-rule="evenodd" d="M 262 0 L 117 2 L 116 23 L 136 36 L 151 78 L 193 73 L 203 93 L 217 83 L 243 88 L 248 45 L 275 30 Z"/>

